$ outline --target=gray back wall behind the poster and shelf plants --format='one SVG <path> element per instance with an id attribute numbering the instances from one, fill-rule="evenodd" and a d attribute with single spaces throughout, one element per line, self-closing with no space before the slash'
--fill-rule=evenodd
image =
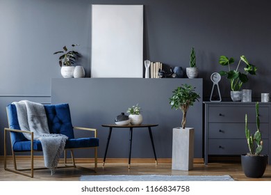
<path id="1" fill-rule="evenodd" d="M 64 45 L 81 45 L 79 64 L 90 77 L 91 4 L 97 3 L 145 6 L 144 59 L 186 68 L 195 47 L 205 98 L 211 93 L 211 73 L 222 70 L 220 55 L 247 56 L 258 66 L 258 75 L 244 88 L 252 88 L 254 98 L 271 92 L 271 1 L 0 0 L 1 129 L 7 125 L 8 102 L 32 97 L 50 102 L 51 78 L 61 77 L 53 53 Z M 224 100 L 229 98 L 225 78 L 220 90 Z M 2 155 L 3 144 L 0 147 Z"/>

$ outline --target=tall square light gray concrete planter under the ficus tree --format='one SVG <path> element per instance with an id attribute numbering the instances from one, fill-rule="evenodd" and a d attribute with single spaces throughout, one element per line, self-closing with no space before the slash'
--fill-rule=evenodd
<path id="1" fill-rule="evenodd" d="M 172 170 L 189 171 L 193 169 L 194 128 L 173 128 Z"/>

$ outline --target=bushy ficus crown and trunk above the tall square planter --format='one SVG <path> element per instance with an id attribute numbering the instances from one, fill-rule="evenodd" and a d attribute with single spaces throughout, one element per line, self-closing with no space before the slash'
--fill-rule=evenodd
<path id="1" fill-rule="evenodd" d="M 172 91 L 173 95 L 170 98 L 170 105 L 172 106 L 172 109 L 175 108 L 181 109 L 183 112 L 183 118 L 181 120 L 181 126 L 183 129 L 186 128 L 186 114 L 188 111 L 188 108 L 190 106 L 193 106 L 194 103 L 199 101 L 199 94 L 195 93 L 195 87 L 192 87 L 188 84 L 182 84 L 178 88 L 176 88 L 174 91 Z"/>

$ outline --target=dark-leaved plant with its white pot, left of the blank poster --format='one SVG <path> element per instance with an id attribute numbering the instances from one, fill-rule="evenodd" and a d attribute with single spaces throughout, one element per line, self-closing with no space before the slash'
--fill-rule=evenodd
<path id="1" fill-rule="evenodd" d="M 78 44 L 73 44 L 72 49 L 68 51 L 67 47 L 63 47 L 63 51 L 54 52 L 54 54 L 61 54 L 58 58 L 58 63 L 61 67 L 61 75 L 64 78 L 74 77 L 74 63 L 76 58 L 80 57 L 79 52 L 74 51 L 74 47 Z"/>

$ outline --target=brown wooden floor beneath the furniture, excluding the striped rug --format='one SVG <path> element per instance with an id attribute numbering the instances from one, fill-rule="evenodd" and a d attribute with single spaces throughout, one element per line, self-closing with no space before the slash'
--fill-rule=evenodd
<path id="1" fill-rule="evenodd" d="M 10 164 L 12 163 L 9 161 Z M 26 161 L 21 161 L 22 164 L 18 164 L 18 168 L 28 167 Z M 131 169 L 128 169 L 126 163 L 106 163 L 103 167 L 101 163 L 98 164 L 97 173 L 94 173 L 94 164 L 77 164 L 78 166 L 85 166 L 88 169 L 83 168 L 67 168 L 57 169 L 56 173 L 51 176 L 49 169 L 34 171 L 34 178 L 28 178 L 26 176 L 19 175 L 5 171 L 3 169 L 3 160 L 0 162 L 0 180 L 6 181 L 79 181 L 80 176 L 83 175 L 189 175 L 189 176 L 209 176 L 209 175 L 229 175 L 234 180 L 238 181 L 271 181 L 271 166 L 267 166 L 263 178 L 246 178 L 242 167 L 239 162 L 211 162 L 207 166 L 204 164 L 194 164 L 194 169 L 191 171 L 173 171 L 170 163 L 131 163 Z M 42 160 L 35 161 L 35 167 L 44 166 Z"/>

